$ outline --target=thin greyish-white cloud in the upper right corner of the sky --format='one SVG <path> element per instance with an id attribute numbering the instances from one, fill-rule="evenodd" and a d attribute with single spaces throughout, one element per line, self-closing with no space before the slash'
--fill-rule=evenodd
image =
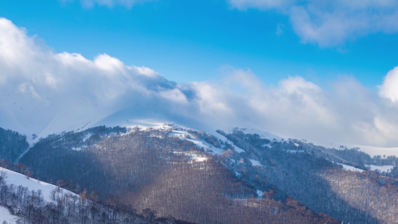
<path id="1" fill-rule="evenodd" d="M 287 15 L 303 43 L 342 45 L 369 33 L 398 31 L 395 0 L 228 0 L 238 10 L 258 8 Z"/>

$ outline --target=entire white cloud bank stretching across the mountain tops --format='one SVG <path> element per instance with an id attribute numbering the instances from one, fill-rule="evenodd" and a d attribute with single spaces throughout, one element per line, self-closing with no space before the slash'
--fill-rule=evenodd
<path id="1" fill-rule="evenodd" d="M 398 67 L 379 92 L 352 77 L 328 90 L 302 77 L 267 86 L 234 68 L 217 83 L 178 84 L 106 54 L 90 60 L 38 42 L 0 18 L 0 127 L 40 136 L 151 119 L 206 131 L 259 127 L 316 143 L 398 145 Z"/>

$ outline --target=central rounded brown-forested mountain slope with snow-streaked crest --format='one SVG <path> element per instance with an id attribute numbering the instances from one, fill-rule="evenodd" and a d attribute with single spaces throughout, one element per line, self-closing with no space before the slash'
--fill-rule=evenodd
<path id="1" fill-rule="evenodd" d="M 243 152 L 229 140 L 165 126 L 109 134 L 76 149 L 80 135 L 38 141 L 21 162 L 44 179 L 72 180 L 101 198 L 117 196 L 116 201 L 137 210 L 151 208 L 191 222 L 339 223 L 288 198 L 258 198 L 253 185 L 218 161 L 226 149 Z"/>

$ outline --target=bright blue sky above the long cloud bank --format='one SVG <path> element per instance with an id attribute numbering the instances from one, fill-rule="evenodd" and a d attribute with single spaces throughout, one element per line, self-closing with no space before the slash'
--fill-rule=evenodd
<path id="1" fill-rule="evenodd" d="M 288 76 L 326 86 L 353 76 L 377 89 L 397 65 L 398 35 L 375 32 L 332 46 L 302 43 L 278 10 L 239 10 L 224 0 L 157 0 L 92 7 L 80 1 L 1 1 L 0 16 L 55 52 L 100 53 L 146 66 L 179 83 L 222 79 L 222 67 L 251 69 L 265 84 Z M 277 28 L 283 32 L 277 35 Z"/>

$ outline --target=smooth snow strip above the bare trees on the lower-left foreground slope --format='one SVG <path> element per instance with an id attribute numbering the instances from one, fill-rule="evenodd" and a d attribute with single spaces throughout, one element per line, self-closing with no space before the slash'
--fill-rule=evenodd
<path id="1" fill-rule="evenodd" d="M 49 183 L 45 183 L 43 181 L 38 181 L 32 178 L 27 179 L 25 175 L 22 175 L 20 173 L 16 173 L 14 171 L 11 171 L 9 169 L 4 169 L 3 167 L 0 167 L 0 171 L 6 171 L 7 177 L 5 178 L 5 181 L 8 185 L 14 184 L 15 186 L 22 185 L 23 187 L 28 187 L 29 191 L 31 190 L 41 190 L 43 192 L 43 198 L 47 202 L 51 202 L 51 196 L 50 192 L 53 189 L 57 189 L 58 187 Z M 67 193 L 68 191 L 63 189 L 63 193 Z M 74 193 L 72 193 L 74 194 Z M 76 194 L 74 194 L 76 195 Z"/>

